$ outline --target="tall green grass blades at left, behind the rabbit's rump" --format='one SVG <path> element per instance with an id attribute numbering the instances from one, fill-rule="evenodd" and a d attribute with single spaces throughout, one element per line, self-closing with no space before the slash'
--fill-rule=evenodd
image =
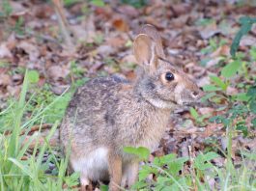
<path id="1" fill-rule="evenodd" d="M 64 185 L 66 189 L 71 189 L 71 186 L 78 184 L 78 179 L 76 175 L 66 176 L 69 157 L 59 159 L 55 148 L 49 145 L 59 122 L 53 124 L 44 138 L 43 145 L 39 143 L 39 135 L 36 133 L 28 138 L 32 125 L 39 120 L 42 124 L 45 111 L 61 97 L 40 108 L 29 120 L 24 121 L 24 114 L 30 101 L 26 101 L 30 85 L 29 71 L 26 71 L 18 101 L 0 113 L 0 119 L 7 116 L 9 118 L 9 125 L 6 129 L 1 129 L 0 133 L 0 190 L 63 190 Z M 5 133 L 7 130 L 11 133 Z M 25 133 L 20 135 L 21 131 Z M 35 148 L 30 150 L 32 142 L 36 144 Z M 29 151 L 27 158 L 24 159 Z M 43 162 L 45 152 L 48 152 L 48 159 Z M 49 161 L 56 166 L 57 175 L 45 173 L 49 169 Z"/>

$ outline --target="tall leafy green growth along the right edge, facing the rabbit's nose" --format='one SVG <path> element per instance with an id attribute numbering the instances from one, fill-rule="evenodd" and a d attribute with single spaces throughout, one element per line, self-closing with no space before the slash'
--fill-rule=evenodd
<path id="1" fill-rule="evenodd" d="M 233 59 L 225 67 L 221 68 L 221 76 L 210 76 L 213 84 L 204 87 L 204 91 L 210 92 L 207 98 L 214 101 L 216 104 L 222 104 L 219 108 L 225 112 L 221 115 L 214 116 L 210 119 L 210 122 L 222 123 L 226 129 L 226 140 L 227 140 L 227 173 L 231 178 L 234 177 L 235 167 L 232 161 L 232 142 L 235 133 L 242 132 L 243 136 L 249 136 L 249 128 L 255 125 L 255 118 L 252 119 L 251 123 L 253 126 L 248 126 L 246 119 L 256 113 L 256 88 L 255 84 L 250 86 L 245 86 L 242 83 L 237 85 L 236 88 L 239 89 L 241 93 L 237 95 L 228 95 L 227 89 L 229 86 L 233 86 L 232 79 L 240 77 L 246 81 L 250 76 L 248 75 L 248 67 L 250 63 L 244 61 L 244 55 L 238 53 L 235 57 L 235 52 L 238 48 L 239 41 L 242 35 L 246 34 L 251 27 L 253 19 L 248 19 L 247 17 L 242 17 L 242 30 L 237 34 L 235 40 L 232 43 L 231 54 Z M 246 21 L 246 22 L 245 22 Z M 250 55 L 254 55 L 254 50 L 250 51 Z M 253 61 L 254 58 L 251 59 Z M 224 100 L 224 104 L 223 104 Z M 224 107 L 223 107 L 224 105 Z M 221 176 L 221 175 L 219 175 Z"/>

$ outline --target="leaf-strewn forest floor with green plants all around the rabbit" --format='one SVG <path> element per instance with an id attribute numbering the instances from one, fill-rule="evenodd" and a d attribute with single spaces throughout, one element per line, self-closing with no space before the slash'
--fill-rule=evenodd
<path id="1" fill-rule="evenodd" d="M 240 18 L 255 16 L 256 4 L 208 0 L 106 2 L 112 3 L 64 0 L 65 7 L 59 12 L 56 10 L 60 7 L 49 1 L 3 0 L 0 5 L 0 164 L 6 164 L 0 166 L 0 190 L 32 185 L 43 188 L 45 182 L 51 181 L 39 178 L 39 172 L 41 176 L 60 177 L 60 169 L 63 170 L 61 187 L 75 189 L 77 176 L 66 177 L 67 167 L 56 165 L 62 161 L 56 149 L 57 135 L 48 140 L 53 150 L 47 144 L 42 152 L 35 151 L 35 147 L 40 150 L 37 144 L 23 150 L 24 145 L 29 148 L 24 143 L 35 138 L 39 129 L 44 134 L 52 133 L 50 127 L 56 128 L 54 123 L 61 121 L 74 90 L 90 78 L 120 73 L 134 79 L 132 41 L 145 23 L 156 26 L 168 60 L 195 79 L 207 94 L 205 100 L 211 102 L 204 107 L 176 111 L 150 162 L 170 153 L 178 158 L 188 157 L 183 171 L 198 177 L 186 183 L 192 190 L 241 190 L 240 186 L 244 190 L 256 190 L 256 101 L 253 102 L 256 24 L 242 37 L 237 56 L 230 55 L 231 43 L 241 29 Z M 26 83 L 25 73 L 29 73 Z M 22 134 L 16 142 L 14 132 Z M 10 140 L 17 145 L 8 147 Z M 23 150 L 22 154 L 18 150 Z M 39 153 L 43 153 L 42 161 L 46 164 L 43 173 L 39 169 L 31 170 L 30 157 L 41 157 Z M 202 165 L 208 163 L 213 165 L 208 168 L 227 169 L 231 162 L 234 167 L 231 172 L 236 175 L 227 173 L 224 178 L 222 174 L 222 185 L 220 174 L 207 177 L 208 168 L 201 169 L 200 174 L 200 167 L 195 164 L 198 169 L 189 171 L 193 159 L 200 154 L 206 156 L 204 153 L 216 153 L 217 157 L 210 156 Z M 66 164 L 65 160 L 62 162 L 59 164 Z M 36 178 L 34 173 L 39 179 L 36 183 L 26 179 Z M 242 173 L 246 178 L 240 177 Z M 21 174 L 24 177 L 16 176 Z M 153 182 L 151 189 L 156 188 L 154 182 L 160 181 L 157 179 L 160 175 L 147 176 Z M 232 176 L 233 179 L 228 178 Z M 23 183 L 12 182 L 10 177 L 22 178 Z M 242 180 L 247 184 L 241 184 Z M 206 182 L 206 187 L 199 186 Z M 142 188 L 140 183 L 137 186 Z M 232 187 L 233 183 L 237 187 Z M 53 184 L 47 186 L 53 189 Z M 166 182 L 162 185 L 170 186 Z"/>

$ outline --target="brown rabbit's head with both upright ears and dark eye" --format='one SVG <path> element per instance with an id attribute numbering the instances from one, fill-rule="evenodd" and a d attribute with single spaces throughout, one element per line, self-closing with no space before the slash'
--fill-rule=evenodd
<path id="1" fill-rule="evenodd" d="M 136 91 L 158 108 L 197 103 L 202 91 L 188 76 L 166 60 L 160 36 L 145 25 L 133 43 L 134 56 L 141 66 Z"/>

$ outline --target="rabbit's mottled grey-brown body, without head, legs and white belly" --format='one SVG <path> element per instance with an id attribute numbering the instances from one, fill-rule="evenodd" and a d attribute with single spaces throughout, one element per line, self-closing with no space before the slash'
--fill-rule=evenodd
<path id="1" fill-rule="evenodd" d="M 66 147 L 71 140 L 77 155 L 101 146 L 118 154 L 124 154 L 126 146 L 153 149 L 165 129 L 168 115 L 162 114 L 166 112 L 156 110 L 123 78 L 96 78 L 73 95 L 61 125 L 61 140 Z"/>

